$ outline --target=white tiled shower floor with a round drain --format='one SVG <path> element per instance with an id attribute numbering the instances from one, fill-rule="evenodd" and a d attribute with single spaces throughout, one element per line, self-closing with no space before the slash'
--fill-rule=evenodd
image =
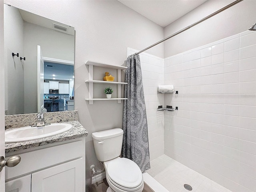
<path id="1" fill-rule="evenodd" d="M 146 172 L 170 192 L 189 192 L 184 184 L 192 186 L 192 192 L 231 192 L 166 155 L 150 161 L 150 166 Z"/>

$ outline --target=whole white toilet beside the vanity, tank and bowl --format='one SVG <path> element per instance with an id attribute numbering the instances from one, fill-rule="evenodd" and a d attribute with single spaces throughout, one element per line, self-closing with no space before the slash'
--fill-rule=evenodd
<path id="1" fill-rule="evenodd" d="M 123 134 L 120 128 L 92 133 L 96 156 L 105 167 L 107 192 L 141 192 L 144 182 L 140 168 L 132 160 L 119 157 Z"/>

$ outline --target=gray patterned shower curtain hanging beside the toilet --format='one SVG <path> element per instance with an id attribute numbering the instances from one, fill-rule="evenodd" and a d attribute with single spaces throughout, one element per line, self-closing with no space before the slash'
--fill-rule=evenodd
<path id="1" fill-rule="evenodd" d="M 141 171 L 150 169 L 148 125 L 142 84 L 140 56 L 130 55 L 126 60 L 123 114 L 122 157 L 133 160 Z"/>

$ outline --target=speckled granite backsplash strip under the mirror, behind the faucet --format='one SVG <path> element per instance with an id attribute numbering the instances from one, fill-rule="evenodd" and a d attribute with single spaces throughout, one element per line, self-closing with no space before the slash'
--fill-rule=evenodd
<path id="1" fill-rule="evenodd" d="M 48 123 L 77 121 L 78 111 L 60 111 L 44 113 L 44 120 Z M 37 122 L 37 113 L 5 116 L 5 129 L 31 126 Z"/>

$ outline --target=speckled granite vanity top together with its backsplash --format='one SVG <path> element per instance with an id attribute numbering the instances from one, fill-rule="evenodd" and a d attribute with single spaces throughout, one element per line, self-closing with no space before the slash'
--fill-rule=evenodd
<path id="1" fill-rule="evenodd" d="M 80 124 L 80 122 L 78 122 L 77 111 L 49 112 L 49 113 L 45 113 L 44 117 L 46 122 L 50 122 L 50 123 L 65 122 L 65 123 L 72 124 L 73 128 L 64 133 L 46 137 L 46 138 L 41 138 L 41 139 L 36 139 L 31 141 L 24 141 L 24 142 L 6 143 L 5 153 L 7 154 L 10 152 L 15 152 L 19 150 L 28 149 L 28 148 L 33 148 L 33 147 L 43 146 L 51 143 L 62 142 L 66 140 L 88 136 L 88 132 L 86 131 L 86 129 Z M 8 115 L 8 117 L 6 117 L 5 120 L 6 120 L 6 126 L 9 129 L 30 126 L 31 124 L 36 122 L 36 113 Z"/>

